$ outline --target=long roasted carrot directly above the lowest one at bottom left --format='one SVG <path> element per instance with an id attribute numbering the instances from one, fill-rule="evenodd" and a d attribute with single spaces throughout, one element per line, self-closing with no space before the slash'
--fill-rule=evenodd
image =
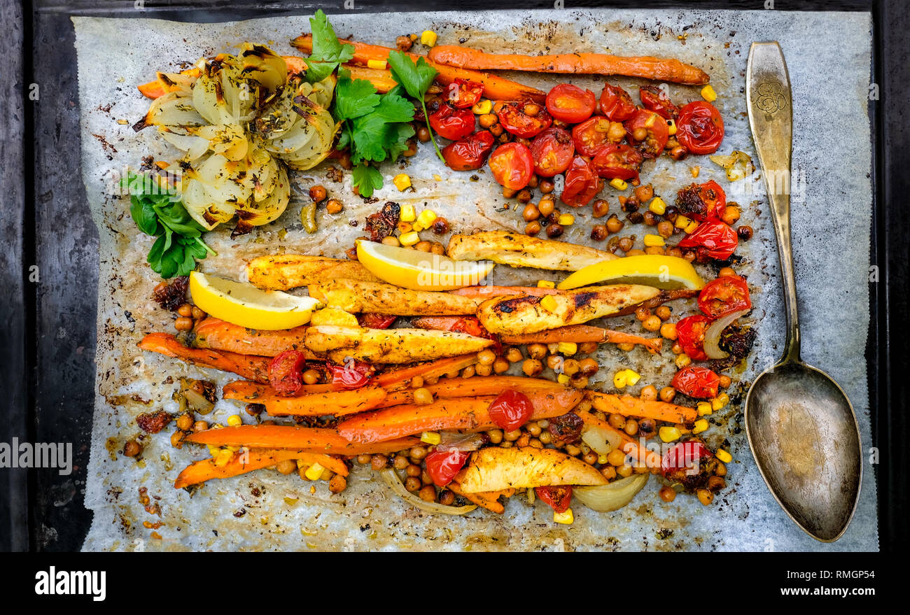
<path id="1" fill-rule="evenodd" d="M 184 440 L 210 446 L 249 447 L 251 449 L 300 449 L 310 453 L 359 455 L 393 453 L 420 444 L 417 438 L 393 439 L 381 444 L 357 444 L 329 428 L 297 425 L 238 425 L 191 433 Z"/>

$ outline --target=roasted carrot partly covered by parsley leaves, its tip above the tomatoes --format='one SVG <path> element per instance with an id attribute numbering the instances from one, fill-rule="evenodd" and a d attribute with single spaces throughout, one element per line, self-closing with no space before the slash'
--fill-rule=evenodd
<path id="1" fill-rule="evenodd" d="M 392 51 L 390 47 L 383 47 L 381 45 L 367 45 L 366 43 L 349 41 L 342 38 L 339 38 L 339 42 L 345 45 L 354 45 L 354 57 L 351 59 L 351 62 L 349 64 L 355 64 L 359 66 L 367 66 L 369 60 L 388 62 L 389 51 Z M 312 53 L 313 51 L 312 35 L 300 35 L 292 40 L 290 44 L 291 46 L 297 47 L 305 54 Z M 435 68 L 439 73 L 439 75 L 436 76 L 436 80 L 441 84 L 449 85 L 455 81 L 455 79 L 468 79 L 469 81 L 475 81 L 483 85 L 484 96 L 487 96 L 492 100 L 524 100 L 530 98 L 531 100 L 542 102 L 547 96 L 546 92 L 541 92 L 541 90 L 537 89 L 536 87 L 524 86 L 520 83 L 510 81 L 509 79 L 503 79 L 499 76 L 490 75 L 488 73 L 481 73 L 480 71 L 475 70 L 466 70 L 464 68 L 458 68 L 455 66 L 445 66 L 431 61 L 424 55 L 408 55 L 410 55 L 414 61 L 417 61 L 417 59 L 420 57 L 426 59 L 427 64 Z"/>

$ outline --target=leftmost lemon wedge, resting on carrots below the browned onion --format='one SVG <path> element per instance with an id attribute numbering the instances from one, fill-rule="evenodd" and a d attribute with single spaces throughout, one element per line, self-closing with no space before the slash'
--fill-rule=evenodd
<path id="1" fill-rule="evenodd" d="M 306 325 L 313 309 L 322 305 L 313 297 L 262 290 L 198 271 L 189 274 L 189 294 L 199 309 L 215 318 L 269 331 Z"/>

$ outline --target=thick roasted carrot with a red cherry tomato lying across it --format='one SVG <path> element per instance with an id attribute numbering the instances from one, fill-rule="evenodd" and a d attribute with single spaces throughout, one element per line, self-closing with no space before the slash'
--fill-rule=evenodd
<path id="1" fill-rule="evenodd" d="M 533 392 L 528 397 L 534 413 L 531 420 L 559 417 L 581 401 L 581 392 L 562 388 Z M 408 404 L 351 417 L 339 424 L 339 435 L 352 442 L 370 443 L 419 434 L 423 431 L 459 429 L 476 431 L 495 428 L 490 403 L 496 396 L 442 398 L 426 405 Z"/>

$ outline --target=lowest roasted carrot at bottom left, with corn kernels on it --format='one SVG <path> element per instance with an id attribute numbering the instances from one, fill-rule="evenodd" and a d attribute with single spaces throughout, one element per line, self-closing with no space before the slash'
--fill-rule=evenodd
<path id="1" fill-rule="evenodd" d="M 210 479 L 227 479 L 232 476 L 246 474 L 254 469 L 268 468 L 280 461 L 298 459 L 307 465 L 319 463 L 323 468 L 328 468 L 341 476 L 348 476 L 348 466 L 344 461 L 321 453 L 308 453 L 295 449 L 249 449 L 240 452 L 223 466 L 217 466 L 215 459 L 202 459 L 194 461 L 177 476 L 174 481 L 175 489 L 183 489 L 190 485 L 197 485 Z"/>

